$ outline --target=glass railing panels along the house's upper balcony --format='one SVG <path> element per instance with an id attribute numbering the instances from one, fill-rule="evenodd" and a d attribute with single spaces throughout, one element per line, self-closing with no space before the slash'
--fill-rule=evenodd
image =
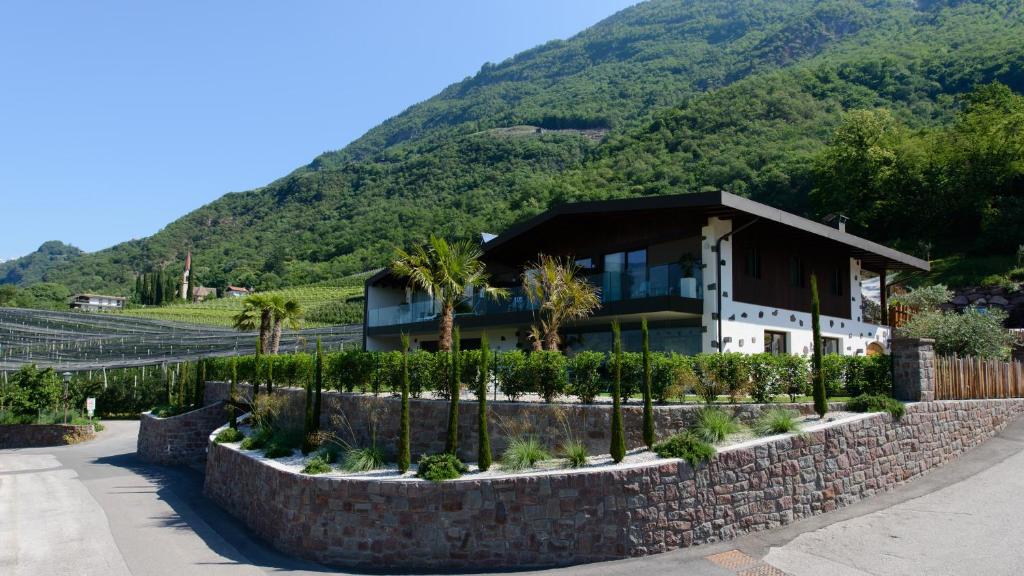
<path id="1" fill-rule="evenodd" d="M 683 276 L 679 264 L 664 264 L 627 273 L 601 273 L 590 275 L 588 280 L 601 289 L 602 302 L 616 302 L 658 296 L 703 298 L 702 271 L 699 264 Z M 474 294 L 456 308 L 456 317 L 489 316 L 515 312 L 529 312 L 536 305 L 529 301 L 521 287 L 508 289 L 508 296 L 501 299 Z M 424 300 L 412 304 L 383 306 L 368 311 L 370 326 L 395 326 L 429 322 L 437 318 L 436 306 Z"/>

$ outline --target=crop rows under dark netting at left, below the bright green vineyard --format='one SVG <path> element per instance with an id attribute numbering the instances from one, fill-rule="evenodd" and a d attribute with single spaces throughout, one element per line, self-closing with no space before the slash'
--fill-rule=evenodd
<path id="1" fill-rule="evenodd" d="M 337 294 L 339 289 L 333 290 Z M 210 310 L 232 314 L 230 308 L 211 306 Z M 344 325 L 286 331 L 281 349 L 282 353 L 309 349 L 317 337 L 323 339 L 326 349 L 360 346 L 361 330 L 360 325 Z M 204 326 L 195 320 L 186 324 L 126 315 L 0 307 L 0 371 L 3 372 L 26 364 L 72 372 L 153 366 L 251 354 L 255 347 L 255 333 Z"/>

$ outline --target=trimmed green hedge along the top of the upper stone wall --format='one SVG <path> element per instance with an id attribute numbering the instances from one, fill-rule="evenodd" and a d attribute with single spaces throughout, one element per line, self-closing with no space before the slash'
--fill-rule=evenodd
<path id="1" fill-rule="evenodd" d="M 463 384 L 474 396 L 472 385 L 479 380 L 479 351 L 461 351 Z M 810 392 L 810 361 L 799 356 L 768 354 L 742 355 L 651 353 L 651 395 L 666 404 L 683 394 L 698 394 L 720 401 L 722 396 L 750 395 L 755 402 L 771 402 L 781 397 L 805 396 Z M 229 359 L 207 361 L 207 376 L 228 379 Z M 263 355 L 260 374 L 272 364 L 275 385 L 302 387 L 313 377 L 313 357 L 308 354 Z M 409 354 L 410 396 L 426 390 L 447 398 L 451 353 L 415 351 Z M 509 400 L 536 394 L 546 400 L 570 396 L 593 402 L 608 394 L 614 361 L 609 355 L 580 352 L 570 358 L 555 352 L 512 351 L 494 354 L 488 371 L 501 393 Z M 238 358 L 239 378 L 255 375 L 252 356 Z M 344 392 L 397 395 L 401 382 L 401 353 L 345 351 L 324 355 L 325 381 Z M 822 361 L 829 397 L 885 395 L 892 392 L 892 370 L 886 356 L 825 356 Z M 638 353 L 623 353 L 623 400 L 636 399 L 643 382 L 643 362 Z"/>

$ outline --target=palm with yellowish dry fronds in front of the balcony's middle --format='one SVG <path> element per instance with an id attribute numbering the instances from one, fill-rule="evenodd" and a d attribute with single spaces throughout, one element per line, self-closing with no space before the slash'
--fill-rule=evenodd
<path id="1" fill-rule="evenodd" d="M 537 306 L 534 333 L 546 349 L 558 349 L 562 324 L 587 318 L 601 307 L 600 291 L 579 276 L 580 270 L 570 258 L 541 254 L 522 274 L 522 289 Z"/>

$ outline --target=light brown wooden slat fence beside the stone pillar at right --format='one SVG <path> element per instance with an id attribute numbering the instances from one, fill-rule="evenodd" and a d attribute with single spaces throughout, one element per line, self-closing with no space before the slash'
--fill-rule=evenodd
<path id="1" fill-rule="evenodd" d="M 935 357 L 935 400 L 1024 398 L 1024 363 Z"/>

